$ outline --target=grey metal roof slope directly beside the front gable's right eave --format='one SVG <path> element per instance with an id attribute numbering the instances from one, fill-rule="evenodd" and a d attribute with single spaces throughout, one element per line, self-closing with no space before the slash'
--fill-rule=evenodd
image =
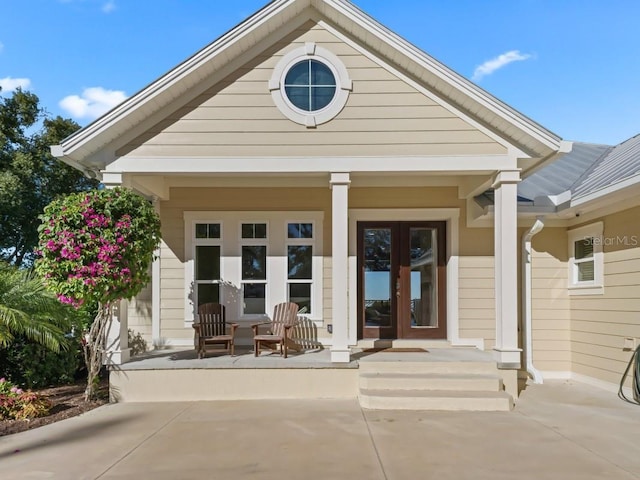
<path id="1" fill-rule="evenodd" d="M 613 147 L 574 142 L 571 152 L 538 170 L 518 184 L 518 196 L 529 200 L 559 195 L 574 184 Z"/>

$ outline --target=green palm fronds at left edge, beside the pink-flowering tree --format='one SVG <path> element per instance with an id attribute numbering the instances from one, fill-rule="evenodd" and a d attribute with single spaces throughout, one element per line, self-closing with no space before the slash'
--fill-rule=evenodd
<path id="1" fill-rule="evenodd" d="M 0 262 L 0 348 L 22 335 L 54 352 L 66 350 L 73 313 L 32 271 Z"/>

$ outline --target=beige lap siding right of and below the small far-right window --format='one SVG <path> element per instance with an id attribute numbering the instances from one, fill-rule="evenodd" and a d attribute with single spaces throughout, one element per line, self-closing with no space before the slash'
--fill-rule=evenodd
<path id="1" fill-rule="evenodd" d="M 624 339 L 640 340 L 639 218 L 633 208 L 602 219 L 604 294 L 571 297 L 573 370 L 614 384 L 631 357 Z"/>

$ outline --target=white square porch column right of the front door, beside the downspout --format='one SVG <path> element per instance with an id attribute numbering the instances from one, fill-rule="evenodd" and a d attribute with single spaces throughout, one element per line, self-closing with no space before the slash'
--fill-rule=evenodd
<path id="1" fill-rule="evenodd" d="M 518 195 L 519 170 L 498 172 L 493 188 L 496 344 L 501 369 L 520 368 L 518 348 Z"/>

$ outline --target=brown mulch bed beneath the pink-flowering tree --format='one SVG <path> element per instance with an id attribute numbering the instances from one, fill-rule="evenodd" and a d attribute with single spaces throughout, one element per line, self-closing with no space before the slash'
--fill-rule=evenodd
<path id="1" fill-rule="evenodd" d="M 85 387 L 86 382 L 80 382 L 74 385 L 33 390 L 46 396 L 53 404 L 49 415 L 31 420 L 0 420 L 0 437 L 75 417 L 108 403 L 109 387 L 106 380 L 100 384 L 100 397 L 96 401 L 84 401 Z"/>

